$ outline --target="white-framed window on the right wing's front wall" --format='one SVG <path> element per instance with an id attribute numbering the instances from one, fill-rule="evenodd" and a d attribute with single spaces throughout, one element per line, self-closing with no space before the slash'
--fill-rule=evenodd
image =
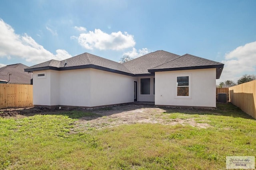
<path id="1" fill-rule="evenodd" d="M 189 96 L 189 76 L 177 76 L 177 96 Z"/>

